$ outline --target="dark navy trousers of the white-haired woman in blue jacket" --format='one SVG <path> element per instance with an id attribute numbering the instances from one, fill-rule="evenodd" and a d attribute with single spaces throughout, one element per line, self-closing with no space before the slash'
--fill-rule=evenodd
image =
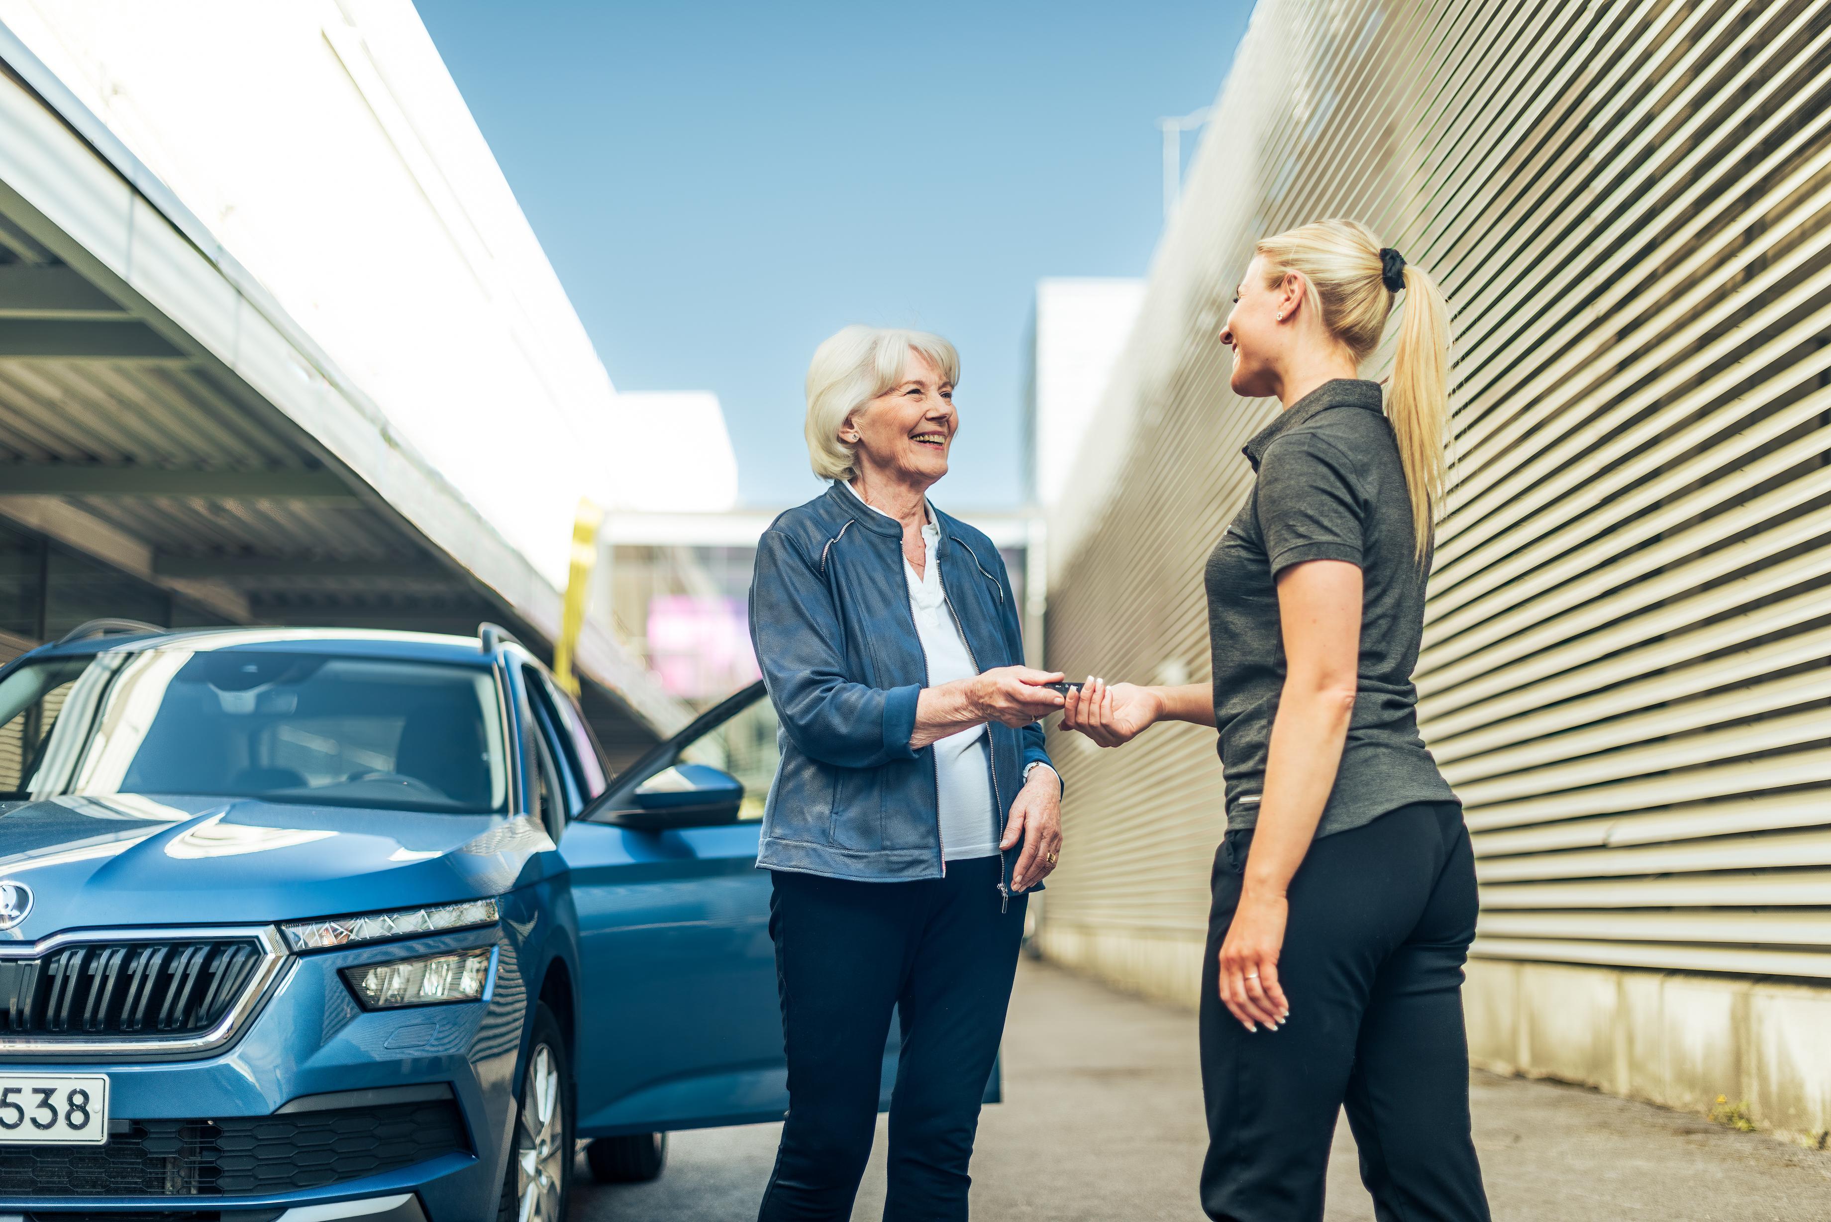
<path id="1" fill-rule="evenodd" d="M 947 878 L 855 883 L 778 870 L 769 898 L 789 1114 L 760 1222 L 846 1222 L 877 1130 L 890 1011 L 886 1222 L 967 1217 L 980 1101 L 1011 1004 L 1025 896 L 1000 911 L 998 857 Z"/>

